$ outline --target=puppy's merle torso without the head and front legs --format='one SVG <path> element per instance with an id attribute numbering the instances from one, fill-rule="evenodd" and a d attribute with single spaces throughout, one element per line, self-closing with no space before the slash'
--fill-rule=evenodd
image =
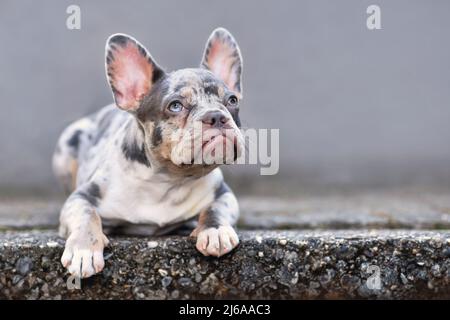
<path id="1" fill-rule="evenodd" d="M 113 105 L 69 126 L 54 161 L 66 188 L 74 185 L 102 218 L 160 227 L 186 221 L 211 204 L 222 187 L 220 169 L 199 178 L 152 170 L 136 148 L 143 144 L 136 126 L 132 115 Z"/>

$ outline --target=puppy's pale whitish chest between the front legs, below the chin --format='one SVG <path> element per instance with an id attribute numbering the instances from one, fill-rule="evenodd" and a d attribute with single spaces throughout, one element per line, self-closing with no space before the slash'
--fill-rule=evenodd
<path id="1" fill-rule="evenodd" d="M 102 199 L 99 215 L 163 227 L 188 220 L 211 204 L 222 174 L 216 169 L 201 179 L 182 185 L 136 182 L 123 176 L 119 179 L 120 183 L 113 185 L 120 187 L 111 188 Z"/>

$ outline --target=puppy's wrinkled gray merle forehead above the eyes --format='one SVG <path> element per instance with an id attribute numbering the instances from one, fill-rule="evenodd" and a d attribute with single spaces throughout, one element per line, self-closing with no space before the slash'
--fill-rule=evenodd
<path id="1" fill-rule="evenodd" d="M 167 96 L 181 96 L 189 104 L 201 100 L 223 98 L 228 89 L 212 72 L 204 69 L 181 69 L 172 72 L 167 78 Z"/>

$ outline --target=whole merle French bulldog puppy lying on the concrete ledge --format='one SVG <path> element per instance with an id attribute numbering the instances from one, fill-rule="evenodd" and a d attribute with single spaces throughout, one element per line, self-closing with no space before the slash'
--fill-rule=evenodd
<path id="1" fill-rule="evenodd" d="M 70 193 L 60 234 L 67 238 L 61 262 L 71 274 L 103 269 L 102 220 L 149 224 L 161 234 L 198 216 L 191 235 L 203 255 L 238 245 L 238 203 L 211 150 L 231 150 L 219 155 L 231 163 L 243 149 L 241 73 L 239 47 L 223 28 L 209 37 L 199 68 L 170 73 L 134 38 L 107 40 L 115 103 L 67 127 L 53 156 Z"/>

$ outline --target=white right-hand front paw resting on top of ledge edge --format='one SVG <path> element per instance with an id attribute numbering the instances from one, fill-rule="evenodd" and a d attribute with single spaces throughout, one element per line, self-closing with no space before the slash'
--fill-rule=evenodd
<path id="1" fill-rule="evenodd" d="M 196 247 L 198 251 L 205 256 L 223 256 L 239 244 L 239 237 L 230 226 L 196 229 L 193 235 L 197 236 Z"/>

